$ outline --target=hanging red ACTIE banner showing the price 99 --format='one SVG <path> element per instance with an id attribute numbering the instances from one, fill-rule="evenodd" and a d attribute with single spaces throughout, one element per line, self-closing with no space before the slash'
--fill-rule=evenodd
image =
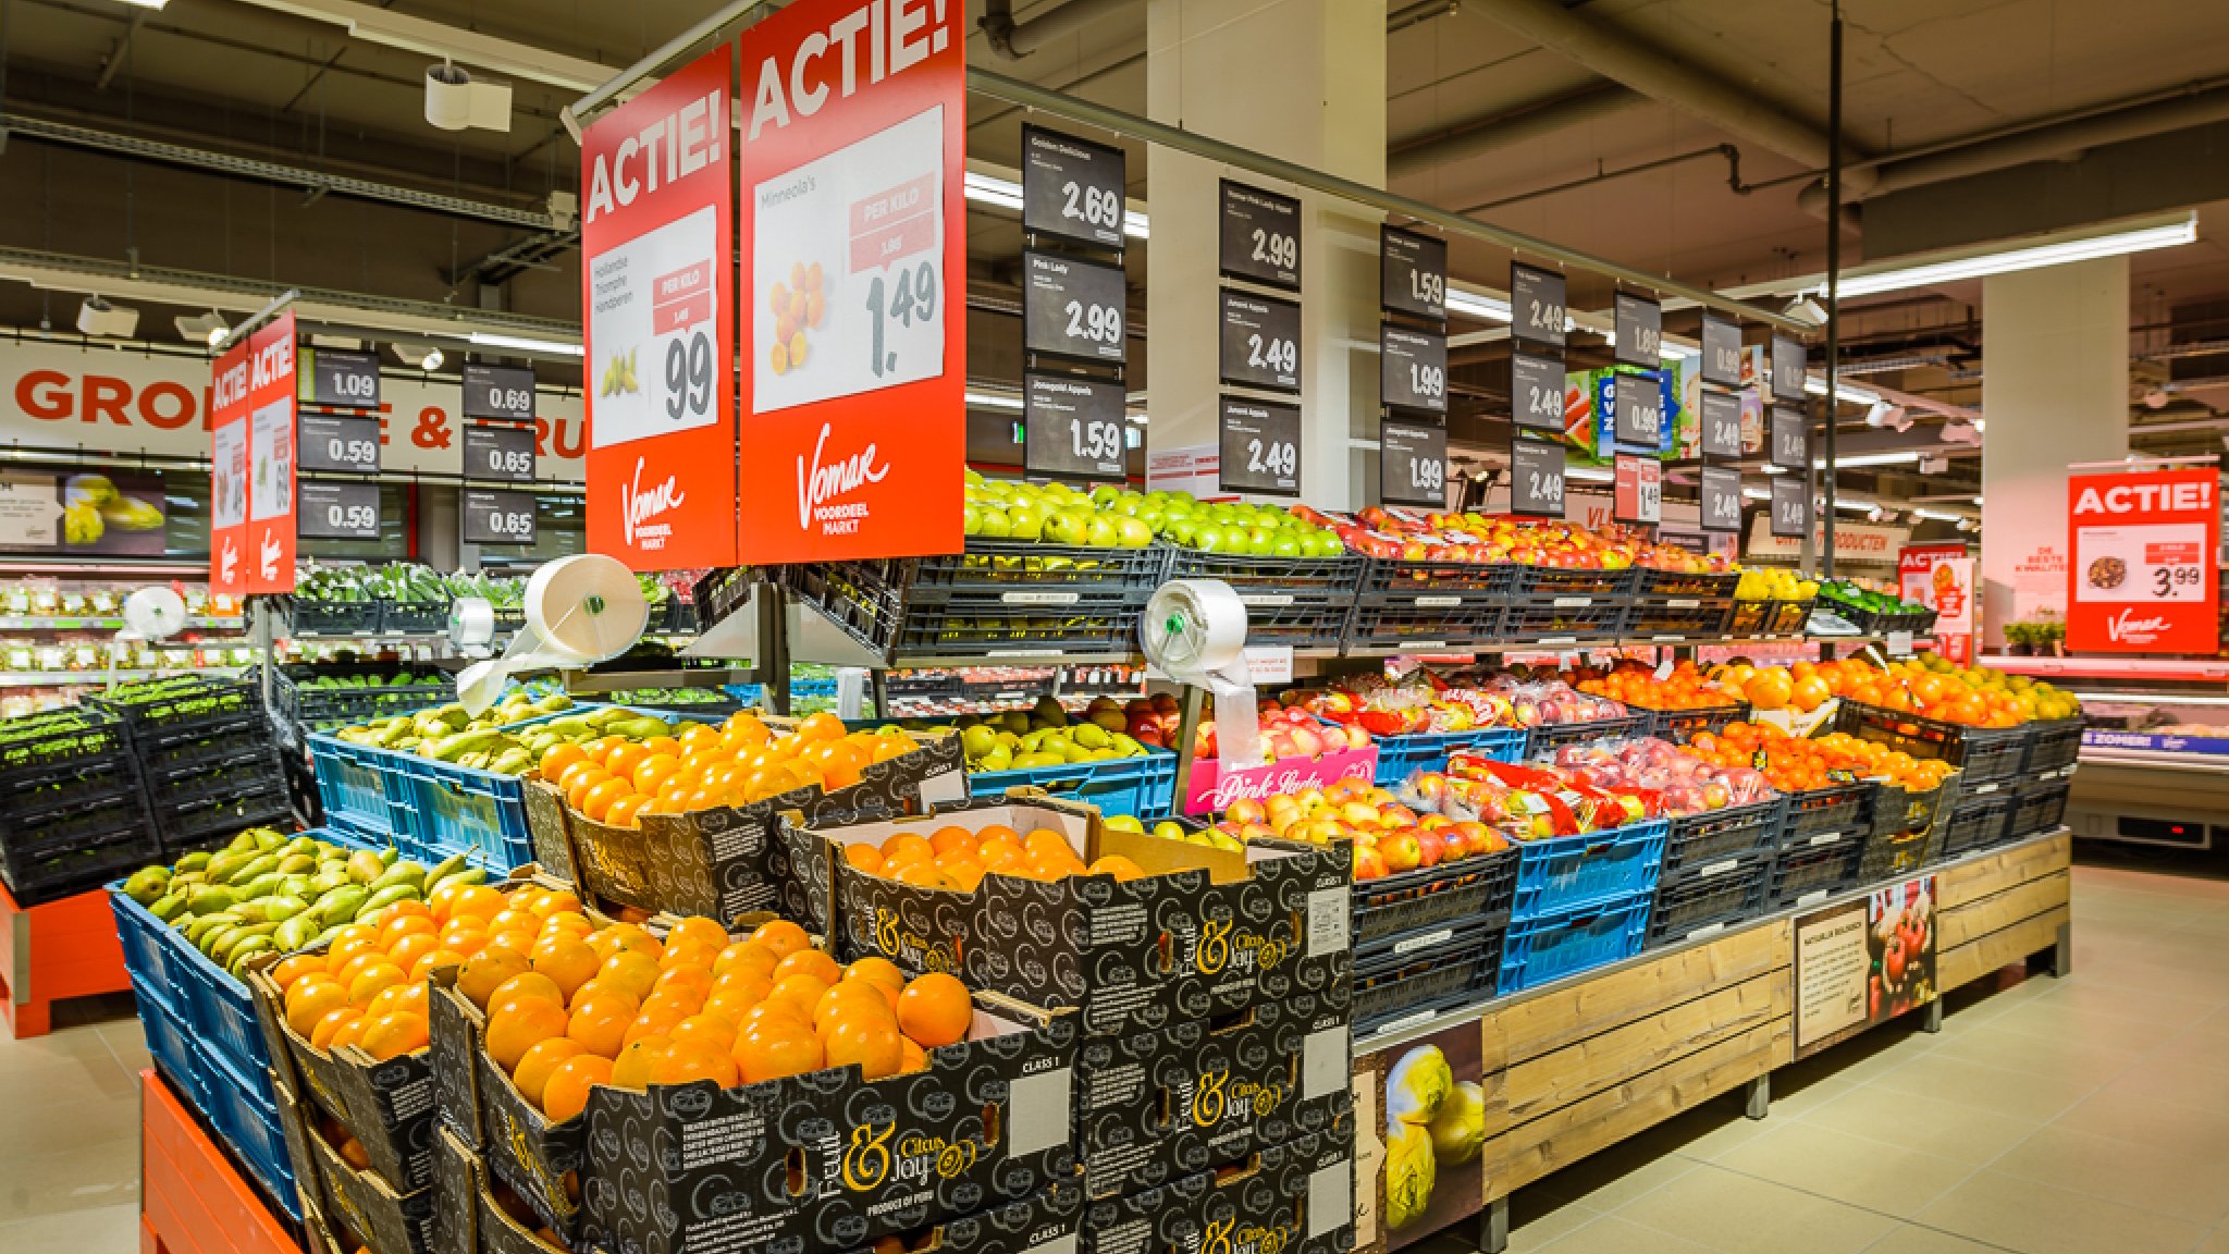
<path id="1" fill-rule="evenodd" d="M 588 551 L 736 565 L 733 51 L 582 134 Z"/>

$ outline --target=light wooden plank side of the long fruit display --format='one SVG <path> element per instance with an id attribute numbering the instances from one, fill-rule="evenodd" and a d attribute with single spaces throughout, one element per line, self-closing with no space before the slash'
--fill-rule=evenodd
<path id="1" fill-rule="evenodd" d="M 1935 881 L 1937 997 L 1912 1011 L 1926 1015 L 1928 1031 L 1941 1026 L 1941 993 L 2002 966 L 2053 951 L 2053 975 L 2069 971 L 2071 861 L 2073 839 L 2060 828 L 1899 879 Z M 1863 904 L 1875 888 L 1886 884 L 1489 1002 L 1476 1020 L 1487 1134 L 1480 1205 L 1427 1212 L 1433 1227 L 1478 1214 L 1478 1245 L 1493 1254 L 1507 1241 L 1511 1192 L 1734 1089 L 1748 1089 L 1750 1118 L 1765 1118 L 1770 1073 L 1801 1053 L 1797 930 L 1837 906 Z M 1382 1062 L 1427 1038 L 1447 1040 L 1451 1026 L 1462 1017 L 1357 1042 L 1357 1109 L 1380 1109 L 1362 1084 Z M 1805 1051 L 1866 1026 L 1875 1024 L 1810 1040 Z M 1458 1069 L 1456 1078 L 1469 1075 Z M 1384 1129 L 1355 1134 L 1369 1221 L 1384 1214 Z M 1438 1189 L 1447 1187 L 1442 1167 Z M 1406 1243 L 1424 1232 L 1400 1236 Z M 1382 1252 L 1386 1236 L 1382 1223 L 1357 1227 L 1355 1250 Z"/>

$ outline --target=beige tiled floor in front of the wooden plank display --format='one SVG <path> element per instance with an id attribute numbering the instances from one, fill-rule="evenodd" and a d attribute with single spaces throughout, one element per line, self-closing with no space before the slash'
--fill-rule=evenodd
<path id="1" fill-rule="evenodd" d="M 2229 881 L 2075 870 L 2075 973 L 1950 997 L 1511 1198 L 1513 1254 L 2229 1254 Z M 1442 1234 L 1420 1254 L 1471 1250 Z"/>

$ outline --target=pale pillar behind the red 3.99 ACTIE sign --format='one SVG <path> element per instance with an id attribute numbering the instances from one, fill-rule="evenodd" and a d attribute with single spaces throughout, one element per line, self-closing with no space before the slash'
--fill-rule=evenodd
<path id="1" fill-rule="evenodd" d="M 2129 259 L 1982 281 L 1986 640 L 2066 611 L 2066 466 L 2129 455 Z"/>

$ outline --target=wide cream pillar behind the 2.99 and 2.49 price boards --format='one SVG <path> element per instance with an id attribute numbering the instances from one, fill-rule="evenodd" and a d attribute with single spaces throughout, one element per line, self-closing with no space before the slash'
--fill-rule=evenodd
<path id="1" fill-rule="evenodd" d="M 1373 187 L 1386 167 L 1384 0 L 1148 0 L 1146 100 L 1159 123 Z M 1146 187 L 1148 448 L 1217 437 L 1217 181 L 1302 196 L 1302 500 L 1360 507 L 1378 460 L 1375 210 L 1152 147 Z"/>

